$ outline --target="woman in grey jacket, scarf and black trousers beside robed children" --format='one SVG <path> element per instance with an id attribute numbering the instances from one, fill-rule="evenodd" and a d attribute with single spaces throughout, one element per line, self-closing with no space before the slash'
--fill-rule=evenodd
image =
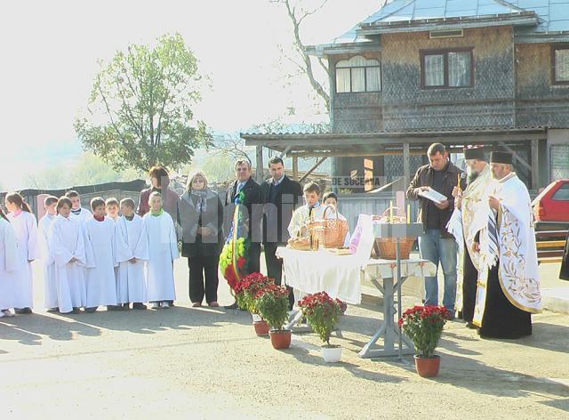
<path id="1" fill-rule="evenodd" d="M 205 302 L 217 307 L 223 204 L 217 193 L 207 187 L 204 173 L 197 172 L 188 179 L 187 191 L 180 196 L 178 203 L 178 222 L 181 226 L 181 254 L 188 258 L 192 306 L 201 306 L 205 295 Z"/>

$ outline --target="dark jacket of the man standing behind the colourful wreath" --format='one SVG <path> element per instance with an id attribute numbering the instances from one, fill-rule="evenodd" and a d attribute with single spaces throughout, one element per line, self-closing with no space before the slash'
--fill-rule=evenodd
<path id="1" fill-rule="evenodd" d="M 231 222 L 233 221 L 233 214 L 235 213 L 235 196 L 237 189 L 237 181 L 233 182 L 229 188 L 225 197 L 225 209 L 224 209 L 224 234 L 227 236 L 229 230 L 231 229 Z M 252 242 L 261 241 L 261 231 L 260 231 L 260 221 L 262 219 L 262 205 L 260 203 L 260 185 L 255 182 L 255 180 L 249 178 L 243 188 L 241 189 L 244 194 L 243 206 L 246 207 L 247 211 L 244 212 L 246 220 L 244 224 L 247 226 L 248 234 L 247 237 L 252 239 Z"/>

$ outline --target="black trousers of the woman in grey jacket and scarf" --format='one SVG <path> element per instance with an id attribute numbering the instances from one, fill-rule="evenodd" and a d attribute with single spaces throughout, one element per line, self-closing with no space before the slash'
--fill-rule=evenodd
<path id="1" fill-rule="evenodd" d="M 192 256 L 188 258 L 189 300 L 192 303 L 217 302 L 217 287 L 220 282 L 218 265 L 220 255 Z M 205 288 L 204 288 L 205 272 Z"/>

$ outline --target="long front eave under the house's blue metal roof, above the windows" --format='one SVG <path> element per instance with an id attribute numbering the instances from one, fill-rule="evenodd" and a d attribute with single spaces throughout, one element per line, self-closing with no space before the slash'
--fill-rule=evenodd
<path id="1" fill-rule="evenodd" d="M 538 24 L 539 18 L 535 12 L 525 12 L 516 13 L 515 15 L 363 23 L 357 29 L 357 35 L 371 36 L 397 32 L 424 32 L 437 29 L 487 28 L 494 26 L 536 26 Z"/>

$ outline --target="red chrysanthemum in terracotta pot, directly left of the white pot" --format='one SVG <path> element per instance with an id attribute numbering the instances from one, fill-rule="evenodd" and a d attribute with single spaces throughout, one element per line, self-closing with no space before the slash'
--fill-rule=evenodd
<path id="1" fill-rule="evenodd" d="M 268 285 L 255 295 L 255 308 L 269 327 L 270 342 L 275 349 L 288 349 L 291 330 L 284 329 L 288 320 L 288 290 L 284 286 Z"/>

